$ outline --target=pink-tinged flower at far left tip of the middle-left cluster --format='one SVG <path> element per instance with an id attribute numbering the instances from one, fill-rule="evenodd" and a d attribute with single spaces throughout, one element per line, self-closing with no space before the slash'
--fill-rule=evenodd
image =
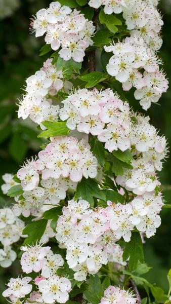
<path id="1" fill-rule="evenodd" d="M 34 161 L 25 163 L 24 167 L 17 172 L 17 177 L 21 180 L 21 186 L 25 191 L 31 191 L 38 186 L 39 175 Z"/>

